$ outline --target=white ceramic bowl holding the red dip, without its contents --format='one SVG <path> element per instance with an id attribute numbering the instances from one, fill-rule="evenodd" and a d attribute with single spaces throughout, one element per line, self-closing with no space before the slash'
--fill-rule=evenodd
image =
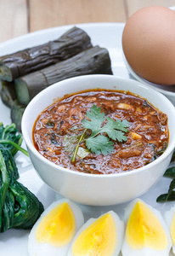
<path id="1" fill-rule="evenodd" d="M 37 152 L 32 143 L 32 127 L 39 113 L 53 103 L 55 97 L 88 89 L 129 90 L 146 98 L 167 113 L 170 142 L 167 150 L 147 166 L 131 172 L 95 175 L 74 172 L 57 166 Z M 42 180 L 60 195 L 91 206 L 109 206 L 130 201 L 144 194 L 162 177 L 175 147 L 175 108 L 167 97 L 132 79 L 112 75 L 88 75 L 65 79 L 42 90 L 27 106 L 22 119 L 22 133 L 31 162 Z"/>

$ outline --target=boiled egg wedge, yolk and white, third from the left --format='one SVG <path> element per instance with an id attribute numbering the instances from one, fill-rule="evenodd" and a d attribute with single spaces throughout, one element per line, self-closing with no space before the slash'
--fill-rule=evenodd
<path id="1" fill-rule="evenodd" d="M 127 225 L 123 256 L 169 255 L 172 241 L 161 212 L 137 199 L 128 205 L 124 218 Z"/>

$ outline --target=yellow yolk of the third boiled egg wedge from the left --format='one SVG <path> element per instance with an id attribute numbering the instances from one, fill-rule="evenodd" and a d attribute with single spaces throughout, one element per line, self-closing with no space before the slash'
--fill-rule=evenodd
<path id="1" fill-rule="evenodd" d="M 150 208 L 138 201 L 127 222 L 127 243 L 133 249 L 149 247 L 163 250 L 167 247 L 167 234 Z"/>

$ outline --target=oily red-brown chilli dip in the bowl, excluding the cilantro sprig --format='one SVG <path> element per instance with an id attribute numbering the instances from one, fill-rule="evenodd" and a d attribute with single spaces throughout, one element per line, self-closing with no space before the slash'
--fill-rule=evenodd
<path id="1" fill-rule="evenodd" d="M 96 105 L 111 119 L 127 119 L 127 142 L 114 141 L 107 155 L 90 153 L 71 162 L 82 119 Z M 88 131 L 90 132 L 90 131 Z M 88 136 L 88 135 L 87 135 Z M 33 143 L 48 160 L 78 172 L 110 174 L 127 172 L 149 164 L 167 148 L 167 115 L 146 100 L 128 92 L 94 90 L 67 96 L 46 108 L 33 127 Z M 86 148 L 84 142 L 81 148 Z"/>

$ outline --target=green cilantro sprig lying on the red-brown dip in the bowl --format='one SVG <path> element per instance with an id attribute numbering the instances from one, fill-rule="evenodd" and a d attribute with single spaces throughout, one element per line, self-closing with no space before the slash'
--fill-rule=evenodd
<path id="1" fill-rule="evenodd" d="M 82 140 L 85 141 L 87 148 L 94 154 L 107 155 L 114 150 L 113 141 L 119 143 L 127 141 L 127 137 L 124 135 L 127 132 L 128 122 L 127 120 L 114 120 L 109 117 L 104 117 L 104 113 L 101 113 L 101 108 L 97 108 L 93 105 L 90 111 L 86 114 L 87 119 L 82 119 L 82 126 L 85 128 L 83 136 L 79 140 L 76 150 L 73 154 L 72 161 L 76 159 L 76 152 L 79 144 Z M 102 125 L 107 120 L 105 125 Z M 85 132 L 91 130 L 91 135 L 85 138 Z M 113 140 L 113 141 L 112 141 Z"/>

